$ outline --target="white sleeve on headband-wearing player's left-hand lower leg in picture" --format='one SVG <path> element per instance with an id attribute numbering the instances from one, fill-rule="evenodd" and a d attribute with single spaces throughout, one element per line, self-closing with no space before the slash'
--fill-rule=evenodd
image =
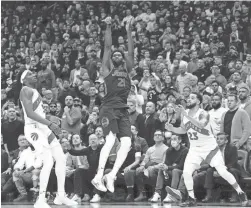
<path id="1" fill-rule="evenodd" d="M 40 172 L 39 181 L 39 198 L 45 199 L 46 189 L 49 182 L 49 177 L 51 174 L 51 169 L 53 167 L 53 158 L 50 149 L 44 148 L 43 151 L 43 167 Z"/>

